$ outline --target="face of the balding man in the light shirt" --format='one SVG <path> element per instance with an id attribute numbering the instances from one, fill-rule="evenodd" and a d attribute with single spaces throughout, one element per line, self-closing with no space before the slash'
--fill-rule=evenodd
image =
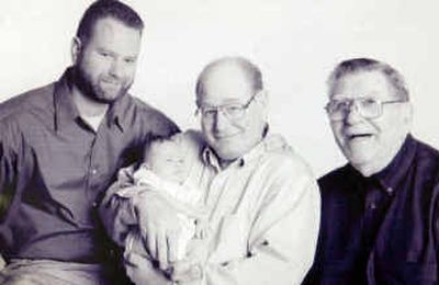
<path id="1" fill-rule="evenodd" d="M 211 70 L 204 78 L 203 90 L 199 98 L 203 135 L 223 162 L 233 161 L 262 139 L 264 94 L 256 93 L 244 71 L 234 65 Z M 246 106 L 243 116 L 227 114 L 227 107 L 233 111 L 233 106 Z M 203 110 L 216 112 L 203 114 Z"/>

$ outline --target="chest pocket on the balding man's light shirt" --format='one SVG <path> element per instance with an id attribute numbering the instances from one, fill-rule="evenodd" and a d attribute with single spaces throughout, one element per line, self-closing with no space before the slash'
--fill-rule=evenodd
<path id="1" fill-rule="evenodd" d="M 214 238 L 210 261 L 227 263 L 243 259 L 248 252 L 248 224 L 241 215 L 225 215 Z"/>

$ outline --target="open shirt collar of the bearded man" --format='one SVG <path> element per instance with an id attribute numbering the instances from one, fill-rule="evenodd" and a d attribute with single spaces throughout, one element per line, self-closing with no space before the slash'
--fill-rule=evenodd
<path id="1" fill-rule="evenodd" d="M 67 124 L 80 118 L 79 111 L 71 98 L 74 84 L 74 69 L 69 67 L 63 73 L 61 78 L 55 83 L 54 105 L 55 105 L 55 130 L 63 128 Z M 126 123 L 123 115 L 130 104 L 128 94 L 124 94 L 110 105 L 105 115 L 106 124 L 111 127 L 116 125 L 121 132 L 126 128 Z"/>

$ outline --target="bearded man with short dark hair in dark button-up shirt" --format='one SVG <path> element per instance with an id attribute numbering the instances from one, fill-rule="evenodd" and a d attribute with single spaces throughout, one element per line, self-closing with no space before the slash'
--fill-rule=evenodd
<path id="1" fill-rule="evenodd" d="M 127 93 L 143 27 L 126 4 L 95 1 L 74 38 L 74 65 L 0 105 L 1 284 L 119 283 L 97 206 L 145 144 L 178 130 Z"/>

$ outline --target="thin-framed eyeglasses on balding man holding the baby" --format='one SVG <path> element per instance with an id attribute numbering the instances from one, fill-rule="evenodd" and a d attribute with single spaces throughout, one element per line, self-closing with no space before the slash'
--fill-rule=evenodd
<path id="1" fill-rule="evenodd" d="M 226 104 L 221 106 L 200 106 L 195 111 L 195 115 L 201 114 L 205 119 L 213 119 L 216 117 L 218 112 L 222 112 L 224 116 L 228 119 L 241 119 L 246 115 L 247 109 L 250 106 L 251 102 L 255 101 L 255 93 L 245 104 Z"/>

